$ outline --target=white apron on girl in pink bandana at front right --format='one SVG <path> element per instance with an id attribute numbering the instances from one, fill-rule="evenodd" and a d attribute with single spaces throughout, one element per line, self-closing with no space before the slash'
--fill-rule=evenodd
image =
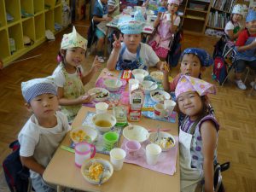
<path id="1" fill-rule="evenodd" d="M 180 171 L 181 171 L 181 191 L 194 192 L 201 191 L 201 180 L 203 171 L 197 168 L 191 168 L 191 142 L 192 135 L 179 129 L 179 150 L 180 150 Z M 198 185 L 198 186 L 197 186 Z"/>

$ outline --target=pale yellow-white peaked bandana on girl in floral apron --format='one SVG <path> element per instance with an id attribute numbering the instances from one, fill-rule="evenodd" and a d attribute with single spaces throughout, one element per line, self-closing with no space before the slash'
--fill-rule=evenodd
<path id="1" fill-rule="evenodd" d="M 79 35 L 76 28 L 73 26 L 73 32 L 63 35 L 61 40 L 61 49 L 70 49 L 74 47 L 79 47 L 86 50 L 87 40 Z"/>

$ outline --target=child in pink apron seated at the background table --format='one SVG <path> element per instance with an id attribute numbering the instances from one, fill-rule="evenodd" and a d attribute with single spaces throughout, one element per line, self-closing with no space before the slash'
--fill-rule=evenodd
<path id="1" fill-rule="evenodd" d="M 162 61 L 166 61 L 172 35 L 177 31 L 177 26 L 180 23 L 180 17 L 177 15 L 179 4 L 179 0 L 168 0 L 168 12 L 158 12 L 157 19 L 154 21 L 157 32 L 148 44 Z"/>

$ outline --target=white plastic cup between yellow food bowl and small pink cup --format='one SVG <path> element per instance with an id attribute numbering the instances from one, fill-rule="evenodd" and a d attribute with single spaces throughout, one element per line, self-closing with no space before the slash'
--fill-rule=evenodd
<path id="1" fill-rule="evenodd" d="M 119 171 L 122 169 L 125 160 L 125 150 L 122 148 L 113 148 L 110 151 L 110 162 L 113 164 L 113 170 Z"/>

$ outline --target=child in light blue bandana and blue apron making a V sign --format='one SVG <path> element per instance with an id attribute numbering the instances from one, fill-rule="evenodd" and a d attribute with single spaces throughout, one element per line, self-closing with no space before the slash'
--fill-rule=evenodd
<path id="1" fill-rule="evenodd" d="M 119 39 L 113 37 L 113 50 L 107 61 L 108 70 L 125 70 L 148 67 L 163 68 L 163 63 L 154 50 L 148 45 L 141 43 L 143 32 L 143 15 L 137 11 L 134 18 L 123 17 L 119 19 L 119 30 L 123 33 Z M 121 44 L 121 39 L 124 43 Z"/>

